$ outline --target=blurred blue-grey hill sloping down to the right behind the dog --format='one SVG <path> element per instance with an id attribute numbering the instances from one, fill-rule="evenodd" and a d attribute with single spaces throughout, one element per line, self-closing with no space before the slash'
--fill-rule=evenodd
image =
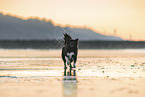
<path id="1" fill-rule="evenodd" d="M 0 40 L 61 40 L 67 32 L 80 40 L 122 41 L 115 36 L 105 36 L 86 28 L 54 26 L 51 21 L 27 19 L 0 13 Z"/>

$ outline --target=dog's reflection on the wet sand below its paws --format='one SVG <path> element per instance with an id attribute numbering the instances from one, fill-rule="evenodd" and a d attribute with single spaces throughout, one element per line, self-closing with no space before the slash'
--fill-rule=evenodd
<path id="1" fill-rule="evenodd" d="M 64 69 L 63 95 L 64 95 L 64 97 L 77 97 L 76 70 Z"/>

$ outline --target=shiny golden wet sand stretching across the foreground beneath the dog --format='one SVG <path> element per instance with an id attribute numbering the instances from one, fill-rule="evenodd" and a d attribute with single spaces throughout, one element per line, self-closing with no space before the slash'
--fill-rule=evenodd
<path id="1" fill-rule="evenodd" d="M 145 50 L 79 50 L 64 70 L 61 50 L 0 50 L 0 97 L 144 97 Z"/>

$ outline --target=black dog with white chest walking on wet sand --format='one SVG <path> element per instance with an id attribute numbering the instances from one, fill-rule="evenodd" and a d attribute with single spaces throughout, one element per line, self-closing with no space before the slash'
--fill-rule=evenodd
<path id="1" fill-rule="evenodd" d="M 77 54 L 78 54 L 78 38 L 72 39 L 70 35 L 64 34 L 64 47 L 62 48 L 62 59 L 64 62 L 64 68 L 66 69 L 66 62 L 67 65 L 72 68 L 71 63 L 74 62 L 73 68 L 76 68 L 76 61 L 77 61 Z"/>

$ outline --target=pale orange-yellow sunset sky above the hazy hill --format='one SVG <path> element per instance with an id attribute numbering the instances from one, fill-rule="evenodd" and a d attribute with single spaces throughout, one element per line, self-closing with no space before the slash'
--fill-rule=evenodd
<path id="1" fill-rule="evenodd" d="M 0 12 L 145 41 L 145 0 L 0 0 Z"/>

